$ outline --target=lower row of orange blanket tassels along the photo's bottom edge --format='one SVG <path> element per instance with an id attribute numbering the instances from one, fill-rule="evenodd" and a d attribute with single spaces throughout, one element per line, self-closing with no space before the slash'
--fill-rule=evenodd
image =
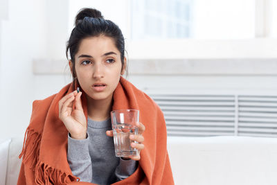
<path id="1" fill-rule="evenodd" d="M 64 185 L 70 182 L 79 182 L 80 178 L 73 175 L 66 174 L 61 170 L 52 168 L 51 166 L 42 162 L 38 163 L 35 167 L 35 183 L 39 185 Z"/>

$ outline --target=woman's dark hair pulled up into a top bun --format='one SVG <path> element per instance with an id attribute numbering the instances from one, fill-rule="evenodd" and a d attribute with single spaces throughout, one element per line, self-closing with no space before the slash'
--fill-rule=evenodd
<path id="1" fill-rule="evenodd" d="M 69 41 L 66 45 L 66 58 L 70 52 L 73 63 L 73 80 L 75 80 L 75 54 L 78 52 L 80 42 L 87 37 L 105 35 L 114 39 L 116 48 L 120 52 L 121 71 L 124 66 L 125 42 L 120 28 L 110 20 L 104 19 L 101 12 L 93 8 L 82 8 L 75 17 L 75 28 L 73 28 Z"/>

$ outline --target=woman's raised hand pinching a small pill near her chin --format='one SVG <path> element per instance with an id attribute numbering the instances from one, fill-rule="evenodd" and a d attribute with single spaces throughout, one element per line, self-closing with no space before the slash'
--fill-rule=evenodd
<path id="1" fill-rule="evenodd" d="M 59 118 L 73 139 L 87 137 L 87 119 L 82 109 L 81 95 L 81 91 L 79 93 L 73 91 L 59 101 Z M 73 103 L 75 103 L 75 107 L 73 107 Z"/>

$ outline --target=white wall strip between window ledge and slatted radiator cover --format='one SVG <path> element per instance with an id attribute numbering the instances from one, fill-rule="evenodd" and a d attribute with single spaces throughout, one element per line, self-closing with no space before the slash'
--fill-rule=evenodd
<path id="1" fill-rule="evenodd" d="M 277 76 L 152 76 L 129 75 L 128 80 L 145 92 L 173 94 L 277 94 Z"/>

